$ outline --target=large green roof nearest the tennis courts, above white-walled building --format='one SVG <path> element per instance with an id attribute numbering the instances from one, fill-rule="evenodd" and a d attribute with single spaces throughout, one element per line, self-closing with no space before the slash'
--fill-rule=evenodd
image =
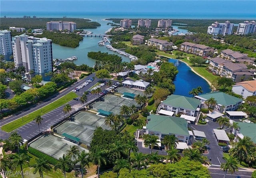
<path id="1" fill-rule="evenodd" d="M 189 136 L 188 122 L 184 118 L 162 115 L 150 115 L 147 117 L 146 128 L 149 131 L 158 131 L 162 134 L 182 134 Z"/>

